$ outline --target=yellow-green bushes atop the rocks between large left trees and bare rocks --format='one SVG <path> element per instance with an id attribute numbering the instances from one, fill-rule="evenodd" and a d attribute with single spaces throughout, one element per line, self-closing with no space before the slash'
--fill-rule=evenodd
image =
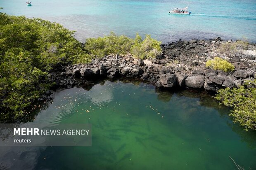
<path id="1" fill-rule="evenodd" d="M 85 50 L 92 57 L 103 57 L 109 54 L 133 54 L 136 58 L 156 58 L 162 55 L 161 42 L 154 40 L 150 35 L 142 41 L 140 35 L 131 39 L 124 35 L 117 36 L 113 32 L 104 37 L 89 38 L 85 42 Z"/>

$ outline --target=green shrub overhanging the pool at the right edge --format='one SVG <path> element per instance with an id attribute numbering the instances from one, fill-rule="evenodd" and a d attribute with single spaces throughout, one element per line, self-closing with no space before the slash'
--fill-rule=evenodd
<path id="1" fill-rule="evenodd" d="M 254 80 L 254 85 L 256 81 Z M 245 130 L 256 130 L 256 88 L 225 88 L 220 89 L 216 95 L 226 106 L 232 107 L 230 116 L 234 121 L 244 126 Z"/>

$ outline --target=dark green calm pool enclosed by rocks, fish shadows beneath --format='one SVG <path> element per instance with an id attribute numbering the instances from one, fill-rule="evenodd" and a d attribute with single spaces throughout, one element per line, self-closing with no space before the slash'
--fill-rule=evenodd
<path id="1" fill-rule="evenodd" d="M 256 168 L 256 133 L 209 95 L 102 82 L 59 91 L 35 122 L 92 123 L 92 147 L 1 148 L 10 169 L 233 170 Z"/>

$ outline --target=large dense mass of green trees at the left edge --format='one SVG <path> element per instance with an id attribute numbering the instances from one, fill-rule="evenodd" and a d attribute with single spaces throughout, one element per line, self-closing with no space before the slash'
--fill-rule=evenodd
<path id="1" fill-rule="evenodd" d="M 60 24 L 0 13 L 0 122 L 26 116 L 47 90 L 47 71 L 85 56 L 73 32 Z"/>

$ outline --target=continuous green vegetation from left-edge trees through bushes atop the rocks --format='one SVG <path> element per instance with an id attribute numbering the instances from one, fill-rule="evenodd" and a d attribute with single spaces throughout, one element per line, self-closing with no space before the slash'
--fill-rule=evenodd
<path id="1" fill-rule="evenodd" d="M 73 33 L 58 23 L 0 13 L 0 122 L 31 116 L 26 109 L 51 86 L 47 74 L 52 68 L 116 53 L 161 54 L 160 42 L 149 35 L 142 41 L 139 35 L 131 39 L 110 33 L 82 47 Z"/>

